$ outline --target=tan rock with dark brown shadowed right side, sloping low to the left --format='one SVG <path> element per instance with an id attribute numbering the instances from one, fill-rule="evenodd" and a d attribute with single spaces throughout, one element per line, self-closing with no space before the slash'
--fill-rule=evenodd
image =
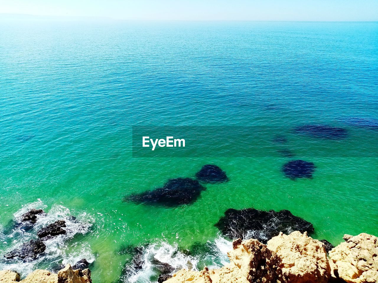
<path id="1" fill-rule="evenodd" d="M 202 271 L 180 270 L 166 283 L 283 283 L 281 263 L 277 254 L 257 240 L 233 242 L 228 253 L 230 263 L 219 269 Z"/>

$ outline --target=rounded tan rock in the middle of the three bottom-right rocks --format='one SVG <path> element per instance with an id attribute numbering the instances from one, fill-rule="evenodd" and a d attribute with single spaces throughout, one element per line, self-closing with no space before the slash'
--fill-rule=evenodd
<path id="1" fill-rule="evenodd" d="M 267 243 L 282 260 L 282 272 L 290 283 L 326 283 L 330 278 L 327 253 L 321 241 L 295 231 L 280 233 Z"/>

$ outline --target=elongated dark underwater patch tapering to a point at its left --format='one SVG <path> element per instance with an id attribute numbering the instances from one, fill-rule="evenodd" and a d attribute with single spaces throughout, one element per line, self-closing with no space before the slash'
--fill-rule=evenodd
<path id="1" fill-rule="evenodd" d="M 170 179 L 163 187 L 124 198 L 149 205 L 179 206 L 193 203 L 206 188 L 191 178 Z"/>

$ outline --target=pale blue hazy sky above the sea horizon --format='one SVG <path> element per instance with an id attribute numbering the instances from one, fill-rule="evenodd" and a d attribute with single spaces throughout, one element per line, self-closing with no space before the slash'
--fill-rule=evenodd
<path id="1" fill-rule="evenodd" d="M 122 20 L 376 21 L 378 0 L 0 0 L 0 13 Z"/>

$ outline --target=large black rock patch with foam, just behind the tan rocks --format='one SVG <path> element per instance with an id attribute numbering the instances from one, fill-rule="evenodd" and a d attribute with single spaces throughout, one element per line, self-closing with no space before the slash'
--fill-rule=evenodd
<path id="1" fill-rule="evenodd" d="M 290 234 L 293 231 L 314 232 L 313 225 L 288 210 L 262 211 L 254 208 L 227 209 L 215 226 L 231 239 L 254 238 L 262 243 L 277 236 L 279 232 Z"/>

